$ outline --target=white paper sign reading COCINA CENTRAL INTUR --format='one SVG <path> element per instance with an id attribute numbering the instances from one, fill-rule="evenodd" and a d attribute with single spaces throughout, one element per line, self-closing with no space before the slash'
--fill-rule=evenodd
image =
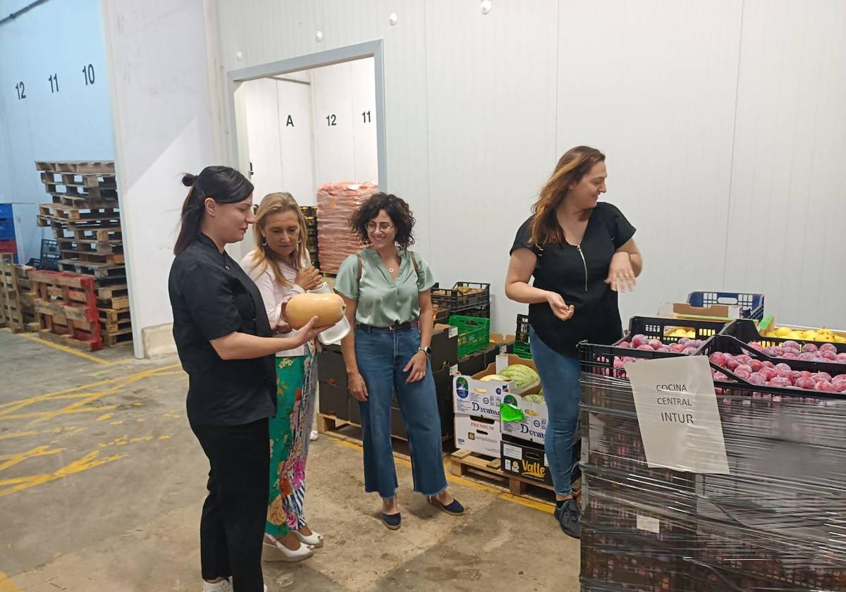
<path id="1" fill-rule="evenodd" d="M 711 366 L 705 356 L 626 365 L 646 464 L 690 473 L 728 474 Z"/>

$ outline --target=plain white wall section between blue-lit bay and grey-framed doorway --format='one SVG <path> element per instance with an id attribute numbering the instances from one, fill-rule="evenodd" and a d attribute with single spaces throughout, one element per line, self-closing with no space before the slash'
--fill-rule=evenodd
<path id="1" fill-rule="evenodd" d="M 201 0 L 103 3 L 137 357 L 141 333 L 173 321 L 168 272 L 187 194 L 181 173 L 222 163 L 208 9 Z"/>

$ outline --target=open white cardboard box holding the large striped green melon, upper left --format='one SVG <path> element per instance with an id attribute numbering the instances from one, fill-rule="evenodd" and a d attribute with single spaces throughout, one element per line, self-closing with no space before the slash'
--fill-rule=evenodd
<path id="1" fill-rule="evenodd" d="M 487 375 L 496 374 L 506 366 L 519 364 L 536 370 L 530 359 L 518 358 L 513 354 L 498 355 L 494 364 L 475 375 L 457 375 L 453 377 L 453 411 L 456 414 L 475 415 L 488 419 L 499 419 L 499 405 L 508 394 L 519 395 L 522 392 L 537 392 L 541 385 L 526 388 L 518 387 L 514 381 L 482 381 Z"/>

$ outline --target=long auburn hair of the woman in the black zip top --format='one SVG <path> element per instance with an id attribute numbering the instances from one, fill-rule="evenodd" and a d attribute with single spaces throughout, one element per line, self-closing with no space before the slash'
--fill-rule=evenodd
<path id="1" fill-rule="evenodd" d="M 531 224 L 532 244 L 545 247 L 547 244 L 564 242 L 564 231 L 558 224 L 555 211 L 567 195 L 570 185 L 578 184 L 597 162 L 605 162 L 605 155 L 590 146 L 570 148 L 558 159 L 552 177 L 543 186 L 541 195 L 531 208 L 535 215 Z"/>

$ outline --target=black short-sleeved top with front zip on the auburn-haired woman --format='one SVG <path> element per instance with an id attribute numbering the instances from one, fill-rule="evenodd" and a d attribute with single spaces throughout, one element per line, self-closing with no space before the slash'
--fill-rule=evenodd
<path id="1" fill-rule="evenodd" d="M 546 302 L 529 305 L 529 322 L 547 346 L 575 357 L 580 341 L 610 344 L 622 337 L 617 293 L 605 283 L 615 251 L 634 236 L 634 227 L 623 213 L 607 202 L 599 202 L 591 212 L 585 236 L 578 245 L 547 244 L 543 249 L 531 244 L 529 218 L 517 231 L 515 249 L 530 249 L 537 256 L 533 285 L 561 294 L 573 304 L 569 321 L 561 321 Z"/>

